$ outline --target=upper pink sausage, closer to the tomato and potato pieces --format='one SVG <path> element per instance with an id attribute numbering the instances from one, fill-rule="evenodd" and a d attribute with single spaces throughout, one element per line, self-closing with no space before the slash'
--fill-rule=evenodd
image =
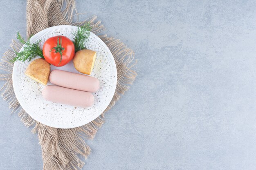
<path id="1" fill-rule="evenodd" d="M 88 75 L 54 70 L 50 73 L 49 80 L 52 84 L 79 91 L 96 92 L 99 90 L 99 80 Z"/>

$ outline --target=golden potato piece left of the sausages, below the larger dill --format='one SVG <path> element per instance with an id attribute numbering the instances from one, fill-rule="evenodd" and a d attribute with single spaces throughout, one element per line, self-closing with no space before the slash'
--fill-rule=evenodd
<path id="1" fill-rule="evenodd" d="M 49 79 L 51 67 L 43 58 L 38 58 L 31 62 L 25 71 L 25 75 L 36 82 L 46 85 Z"/>

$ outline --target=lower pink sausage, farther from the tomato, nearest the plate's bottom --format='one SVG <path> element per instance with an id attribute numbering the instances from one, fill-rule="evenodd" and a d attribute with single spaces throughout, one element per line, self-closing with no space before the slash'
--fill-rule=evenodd
<path id="1" fill-rule="evenodd" d="M 90 107 L 94 102 L 94 96 L 89 92 L 77 91 L 60 86 L 45 86 L 42 93 L 43 98 L 51 102 L 82 108 Z"/>

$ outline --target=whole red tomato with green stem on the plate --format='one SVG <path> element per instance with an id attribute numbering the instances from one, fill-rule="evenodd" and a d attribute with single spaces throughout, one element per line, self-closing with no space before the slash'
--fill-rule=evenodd
<path id="1" fill-rule="evenodd" d="M 51 37 L 43 45 L 43 56 L 45 60 L 57 67 L 64 66 L 70 62 L 75 55 L 73 42 L 64 36 Z"/>

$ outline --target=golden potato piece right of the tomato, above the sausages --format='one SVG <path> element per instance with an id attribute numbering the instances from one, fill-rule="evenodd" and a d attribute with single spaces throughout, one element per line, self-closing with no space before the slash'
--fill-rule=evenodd
<path id="1" fill-rule="evenodd" d="M 84 49 L 77 51 L 73 63 L 77 71 L 90 75 L 96 59 L 97 52 Z"/>

